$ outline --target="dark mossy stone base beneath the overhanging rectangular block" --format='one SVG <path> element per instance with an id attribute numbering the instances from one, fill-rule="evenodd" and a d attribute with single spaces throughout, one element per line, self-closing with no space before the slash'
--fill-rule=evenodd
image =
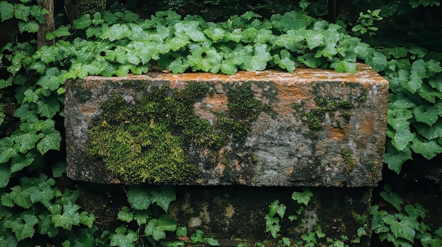
<path id="1" fill-rule="evenodd" d="M 264 216 L 269 213 L 270 203 L 279 200 L 287 206 L 280 222 L 282 236 L 301 239 L 301 234 L 321 227 L 325 233 L 323 243 L 326 238 L 341 239 L 342 235 L 351 241 L 362 226 L 357 221 L 358 215 L 369 213 L 371 188 L 310 189 L 311 201 L 293 222 L 288 216 L 299 208 L 292 200 L 292 193 L 301 191 L 299 187 L 177 186 L 177 201 L 170 205 L 169 215 L 178 220 L 179 226 L 187 227 L 189 235 L 200 229 L 205 236 L 229 239 L 220 241 L 224 246 L 237 246 L 239 242 L 253 246 L 253 241 L 275 241 L 265 232 Z M 366 232 L 370 233 L 368 222 Z M 361 243 L 354 246 L 369 246 L 369 239 L 370 236 L 363 236 Z"/>

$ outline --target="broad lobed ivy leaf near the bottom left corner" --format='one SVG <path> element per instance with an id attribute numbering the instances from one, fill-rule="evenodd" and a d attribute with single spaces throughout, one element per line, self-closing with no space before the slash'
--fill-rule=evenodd
<path id="1" fill-rule="evenodd" d="M 38 219 L 35 215 L 21 215 L 16 220 L 8 220 L 5 222 L 7 228 L 11 228 L 12 232 L 16 234 L 17 240 L 23 240 L 34 236 L 34 226 Z"/>

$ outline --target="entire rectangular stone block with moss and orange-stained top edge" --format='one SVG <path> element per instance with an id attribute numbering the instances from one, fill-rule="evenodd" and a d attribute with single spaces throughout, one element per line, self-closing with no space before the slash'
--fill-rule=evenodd
<path id="1" fill-rule="evenodd" d="M 298 68 L 66 83 L 68 176 L 97 183 L 376 186 L 388 82 Z"/>

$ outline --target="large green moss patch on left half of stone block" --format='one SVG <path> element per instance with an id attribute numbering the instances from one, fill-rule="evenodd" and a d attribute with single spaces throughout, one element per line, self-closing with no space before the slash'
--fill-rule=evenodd
<path id="1" fill-rule="evenodd" d="M 189 157 L 190 146 L 219 150 L 229 143 L 242 144 L 251 122 L 270 108 L 255 99 L 251 84 L 230 85 L 229 110 L 211 125 L 194 113 L 193 105 L 213 88 L 200 82 L 190 82 L 184 89 L 152 87 L 135 103 L 120 94 L 111 96 L 89 129 L 88 156 L 102 160 L 127 184 L 193 179 L 198 170 Z"/>

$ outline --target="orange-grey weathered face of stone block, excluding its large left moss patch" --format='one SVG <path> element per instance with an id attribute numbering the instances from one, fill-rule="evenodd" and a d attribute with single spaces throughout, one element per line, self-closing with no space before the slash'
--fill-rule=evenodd
<path id="1" fill-rule="evenodd" d="M 196 115 L 216 125 L 229 110 L 227 85 L 248 84 L 256 99 L 271 106 L 250 123 L 244 143 L 220 150 L 189 148 L 198 175 L 179 184 L 248 186 L 376 186 L 386 137 L 388 82 L 368 65 L 354 74 L 298 68 L 208 73 L 151 73 L 86 77 L 66 83 L 67 173 L 75 180 L 126 183 L 102 160 L 86 154 L 88 129 L 114 94 L 136 103 L 153 87 L 184 89 L 211 83 L 213 94 L 194 104 Z M 193 221 L 194 224 L 198 220 Z"/>

